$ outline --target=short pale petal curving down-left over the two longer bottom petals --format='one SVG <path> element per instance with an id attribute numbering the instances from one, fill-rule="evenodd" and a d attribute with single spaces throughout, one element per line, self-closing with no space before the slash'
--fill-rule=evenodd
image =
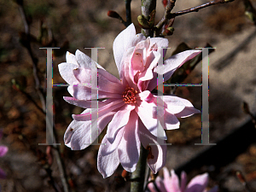
<path id="1" fill-rule="evenodd" d="M 113 119 L 108 124 L 108 142 L 113 143 L 117 131 L 119 131 L 120 128 L 124 127 L 128 123 L 131 110 L 134 108 L 134 105 L 125 105 L 123 108 L 120 108 L 117 113 L 114 114 Z"/>

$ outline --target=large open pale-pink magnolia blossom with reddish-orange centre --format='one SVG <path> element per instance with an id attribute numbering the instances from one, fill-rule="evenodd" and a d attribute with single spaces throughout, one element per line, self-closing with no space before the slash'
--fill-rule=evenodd
<path id="1" fill-rule="evenodd" d="M 166 164 L 166 146 L 156 145 L 159 141 L 158 96 L 150 91 L 157 85 L 157 73 L 164 74 L 166 81 L 178 67 L 201 51 L 188 50 L 173 55 L 160 68 L 157 63 L 163 58 L 163 47 L 168 47 L 166 38 L 145 38 L 143 34 L 136 34 L 131 24 L 113 42 L 113 55 L 120 79 L 79 50 L 75 55 L 67 52 L 67 62 L 59 65 L 61 77 L 70 84 L 67 90 L 73 96 L 64 96 L 64 100 L 86 108 L 81 114 L 73 114 L 73 122 L 67 127 L 64 136 L 67 147 L 73 150 L 87 148 L 108 125 L 97 160 L 98 170 L 103 177 L 112 175 L 119 163 L 127 172 L 135 171 L 141 143 L 149 150 L 148 166 L 154 173 Z M 97 88 L 90 86 L 91 67 L 97 67 Z M 92 94 L 91 89 L 97 89 L 98 96 Z M 92 129 L 96 134 L 91 134 L 91 100 L 96 99 L 101 99 L 97 111 L 98 130 Z M 163 96 L 163 102 L 164 113 L 161 118 L 165 120 L 162 125 L 165 130 L 177 129 L 177 118 L 200 113 L 189 101 L 177 96 Z M 164 130 L 162 132 L 163 136 L 159 139 L 164 143 L 166 135 Z M 149 146 L 149 143 L 155 145 Z"/>

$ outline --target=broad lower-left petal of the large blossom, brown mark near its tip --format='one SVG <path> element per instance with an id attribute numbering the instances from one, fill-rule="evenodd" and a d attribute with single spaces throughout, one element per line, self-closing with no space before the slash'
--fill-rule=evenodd
<path id="1" fill-rule="evenodd" d="M 85 109 L 84 113 L 88 113 L 90 109 Z M 106 113 L 98 118 L 98 128 L 91 129 L 91 121 L 73 120 L 67 127 L 64 135 L 64 142 L 67 147 L 73 150 L 81 150 L 87 148 L 101 134 L 102 130 L 108 125 L 108 122 L 113 118 L 112 113 Z M 91 132 L 93 131 L 93 132 Z"/>

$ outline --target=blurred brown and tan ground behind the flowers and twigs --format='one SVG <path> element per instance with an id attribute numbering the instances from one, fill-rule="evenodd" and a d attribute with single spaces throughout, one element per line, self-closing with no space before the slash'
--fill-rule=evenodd
<path id="1" fill-rule="evenodd" d="M 166 166 L 175 169 L 177 174 L 186 171 L 189 178 L 208 172 L 209 186 L 218 184 L 219 191 L 246 191 L 236 172 L 244 175 L 250 191 L 256 191 L 256 131 L 250 115 L 242 110 L 243 102 L 247 102 L 251 113 L 256 112 L 256 31 L 253 21 L 245 15 L 248 7 L 244 2 L 235 0 L 178 16 L 173 35 L 166 37 L 172 48 L 166 58 L 182 43 L 191 49 L 207 44 L 216 48 L 209 56 L 209 138 L 210 143 L 217 145 L 195 145 L 201 143 L 201 114 L 180 119 L 180 129 L 166 131 L 168 143 L 172 143 L 168 146 Z M 74 54 L 80 49 L 90 55 L 90 49 L 84 47 L 104 47 L 98 51 L 98 63 L 118 77 L 112 45 L 125 26 L 107 13 L 115 10 L 125 20 L 125 1 L 24 0 L 30 26 L 30 50 L 26 49 L 26 27 L 19 3 L 21 1 L 0 0 L 0 129 L 3 130 L 0 143 L 9 147 L 8 154 L 0 158 L 0 167 L 7 174 L 6 179 L 0 179 L 0 184 L 3 192 L 63 191 L 55 149 L 38 146 L 45 143 L 45 115 L 38 109 L 42 103 L 37 86 L 40 85 L 44 93 L 46 83 L 46 51 L 39 47 L 61 47 L 53 55 L 54 84 L 66 84 L 57 67 L 66 61 L 66 51 Z M 202 3 L 207 1 L 177 0 L 173 12 Z M 251 3 L 256 8 L 256 1 Z M 133 0 L 131 20 L 140 32 L 138 15 L 141 15 L 140 1 Z M 156 22 L 163 15 L 164 6 L 159 0 Z M 33 63 L 38 65 L 38 84 Z M 201 63 L 183 83 L 201 83 Z M 178 87 L 176 94 L 201 109 L 201 87 Z M 69 96 L 67 87 L 53 88 L 55 131 L 72 191 L 129 191 L 130 183 L 121 177 L 121 166 L 106 179 L 97 171 L 99 146 L 72 151 L 64 145 L 63 136 L 72 114 L 81 113 L 82 108 L 68 104 L 63 96 Z"/>

